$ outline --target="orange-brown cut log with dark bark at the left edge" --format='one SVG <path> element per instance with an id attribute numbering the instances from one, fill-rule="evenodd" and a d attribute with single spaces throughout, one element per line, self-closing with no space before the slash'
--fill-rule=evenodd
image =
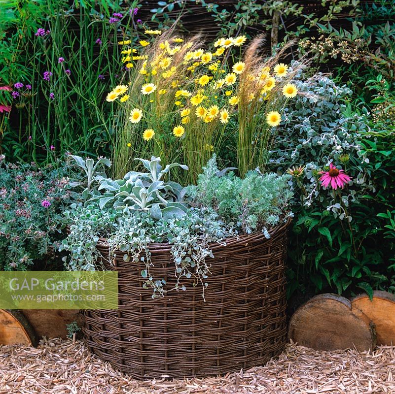
<path id="1" fill-rule="evenodd" d="M 36 343 L 35 331 L 20 311 L 0 309 L 1 345 L 36 346 Z"/>

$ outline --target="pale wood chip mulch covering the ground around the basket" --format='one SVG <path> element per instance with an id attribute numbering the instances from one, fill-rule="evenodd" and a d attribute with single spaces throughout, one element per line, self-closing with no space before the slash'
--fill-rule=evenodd
<path id="1" fill-rule="evenodd" d="M 372 354 L 287 345 L 265 366 L 208 379 L 135 381 L 91 355 L 83 342 L 0 346 L 0 394 L 367 394 L 395 393 L 395 347 Z"/>

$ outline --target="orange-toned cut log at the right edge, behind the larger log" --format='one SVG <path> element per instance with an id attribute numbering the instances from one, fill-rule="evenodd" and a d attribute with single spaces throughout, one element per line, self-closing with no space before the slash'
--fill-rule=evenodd
<path id="1" fill-rule="evenodd" d="M 376 326 L 377 345 L 395 345 L 395 295 L 376 290 L 373 299 L 361 294 L 351 299 L 353 311 L 362 311 Z"/>

